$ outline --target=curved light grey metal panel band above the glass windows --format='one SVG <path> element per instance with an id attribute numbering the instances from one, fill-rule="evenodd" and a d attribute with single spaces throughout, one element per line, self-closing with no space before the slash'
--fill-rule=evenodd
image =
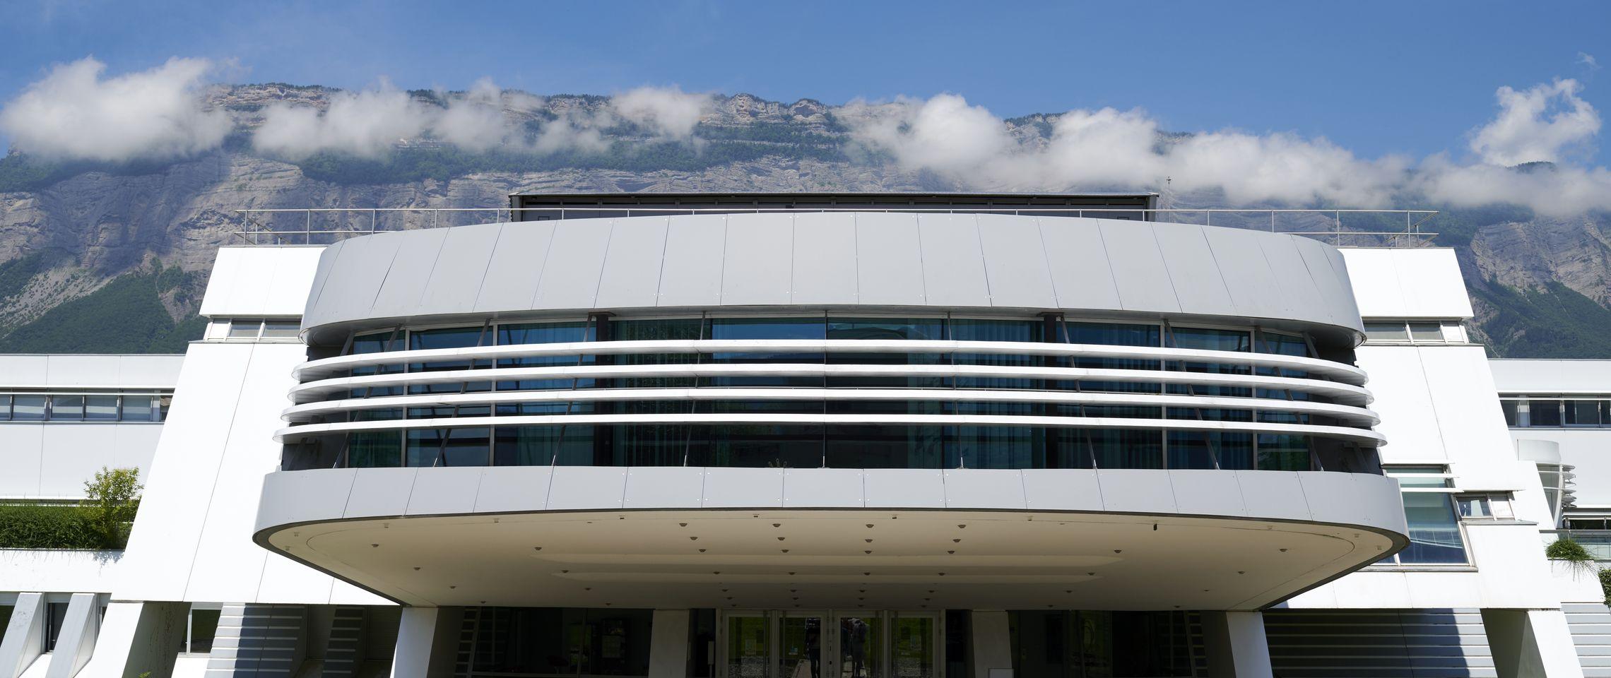
<path id="1" fill-rule="evenodd" d="M 648 224 L 667 224 L 659 261 Z M 623 237 L 649 234 L 651 242 L 617 248 L 614 229 Z M 448 242 L 427 230 L 366 235 L 329 248 L 303 327 L 462 312 L 459 285 L 480 267 L 485 280 L 475 311 L 499 314 L 643 308 L 640 275 L 657 271 L 659 308 L 994 306 L 1234 316 L 1239 324 L 1281 319 L 1363 330 L 1337 250 L 1281 234 L 904 213 L 569 219 L 557 227 L 519 222 L 449 230 L 453 245 L 441 245 L 438 259 L 454 261 L 435 266 L 461 275 L 432 275 L 424 259 L 416 261 L 416 248 Z M 548 234 L 554 234 L 551 242 Z M 495 243 L 472 246 L 466 238 Z M 408 256 L 395 256 L 400 246 Z M 636 269 L 644 272 L 633 275 L 632 293 L 612 287 L 625 282 L 617 272 Z M 601 287 L 601 274 L 609 274 L 609 285 Z M 398 275 L 412 280 L 387 282 Z M 390 285 L 403 290 L 419 279 L 427 282 L 412 306 L 403 306 L 403 296 L 412 295 L 382 296 Z"/>

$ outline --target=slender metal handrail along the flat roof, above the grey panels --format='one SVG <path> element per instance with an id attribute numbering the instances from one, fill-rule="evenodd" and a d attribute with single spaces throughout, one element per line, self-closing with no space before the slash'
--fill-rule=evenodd
<path id="1" fill-rule="evenodd" d="M 1344 237 L 1368 235 L 1374 238 L 1387 238 L 1389 245 L 1398 242 L 1398 238 L 1408 238 L 1411 243 L 1421 243 L 1419 238 L 1431 238 L 1439 234 L 1421 230 L 1421 225 L 1439 214 L 1437 209 L 1237 209 L 1237 208 L 1168 208 L 1168 209 L 1147 209 L 1147 208 L 1070 208 L 1070 206 L 1012 206 L 1012 208 L 992 208 L 992 206 L 965 206 L 965 208 L 923 208 L 923 206 L 799 206 L 799 208 L 767 208 L 767 206 L 722 206 L 722 208 L 672 208 L 672 206 L 541 206 L 541 208 L 258 208 L 258 209 L 235 209 L 235 214 L 242 219 L 242 227 L 234 230 L 245 243 L 250 245 L 296 245 L 298 240 L 303 245 L 313 245 L 313 238 L 319 237 L 346 237 L 346 235 L 367 235 L 383 230 L 403 230 L 403 229 L 383 229 L 382 214 L 395 213 L 417 213 L 430 216 L 430 227 L 440 225 L 441 213 L 491 213 L 491 222 L 503 222 L 504 216 L 507 221 L 514 221 L 516 213 L 548 213 L 557 214 L 557 221 L 567 219 L 567 213 L 583 213 L 585 216 L 575 216 L 572 219 L 596 219 L 598 213 L 619 213 L 619 216 L 633 216 L 633 213 L 641 213 L 640 216 L 680 216 L 680 214 L 767 214 L 767 213 L 918 213 L 918 214 L 1013 214 L 1021 216 L 1029 213 L 1033 216 L 1046 216 L 1054 213 L 1057 216 L 1073 216 L 1084 217 L 1086 213 L 1092 216 L 1112 217 L 1116 214 L 1124 216 L 1141 216 L 1145 221 L 1147 216 L 1158 214 L 1200 214 L 1202 225 L 1213 225 L 1215 214 L 1250 214 L 1250 216 L 1269 216 L 1269 232 L 1284 235 L 1307 235 L 1307 237 L 1331 237 L 1336 245 L 1342 245 Z M 301 229 L 275 229 L 261 224 L 258 219 L 261 216 L 272 214 L 303 214 Z M 369 229 L 314 229 L 316 214 L 369 214 Z M 1279 214 L 1318 214 L 1331 217 L 1331 230 L 1276 230 L 1276 217 Z M 1403 230 L 1344 230 L 1342 216 L 1344 214 L 1402 214 L 1405 217 Z M 1157 221 L 1157 219 L 1153 219 Z M 1176 224 L 1191 224 L 1191 221 L 1171 221 Z M 1223 221 L 1221 221 L 1223 222 Z M 267 240 L 267 242 L 264 242 Z"/>

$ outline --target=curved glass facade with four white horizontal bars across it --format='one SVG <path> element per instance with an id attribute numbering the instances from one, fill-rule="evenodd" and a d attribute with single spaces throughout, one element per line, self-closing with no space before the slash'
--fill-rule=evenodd
<path id="1" fill-rule="evenodd" d="M 409 356 L 432 349 L 606 341 L 662 341 L 678 348 L 675 353 L 583 348 L 517 356 L 503 351 L 464 359 Z M 834 341 L 868 343 L 863 353 Z M 933 353 L 923 351 L 923 341 L 934 343 Z M 959 348 L 950 341 L 1002 343 L 1002 348 Z M 1107 358 L 1029 349 L 1046 343 L 1182 349 L 1191 358 L 1202 354 L 1189 351 L 1215 351 L 1224 358 L 1197 362 L 1168 359 L 1170 351 Z M 962 353 L 986 348 L 989 353 Z M 342 349 L 343 356 L 391 353 L 396 361 L 385 356 L 353 367 L 309 370 L 314 377 L 303 387 L 317 388 L 293 391 L 300 412 L 306 414 L 288 419 L 364 430 L 288 436 L 287 470 L 340 465 L 1313 470 L 1337 467 L 1326 459 L 1374 459 L 1373 451 L 1363 454 L 1353 443 L 1279 432 L 1281 425 L 1368 428 L 1369 422 L 1331 415 L 1348 409 L 1337 406 L 1339 398 L 1297 387 L 1266 388 L 1337 382 L 1307 369 L 1236 358 L 1260 353 L 1315 358 L 1305 337 L 1253 327 L 1084 322 L 1058 316 L 596 314 L 562 322 L 400 327 L 354 335 Z M 1319 361 L 1286 364 L 1324 367 Z M 569 367 L 588 370 L 556 370 Z M 475 378 L 477 370 L 490 372 Z M 1028 375 L 1020 378 L 1015 372 Z M 1058 374 L 1084 378 L 1052 378 Z M 1194 375 L 1237 378 L 1226 385 Z M 324 380 L 340 388 L 321 385 Z M 635 395 L 646 390 L 686 391 Z M 524 399 L 519 393 L 532 396 Z M 545 415 L 564 419 L 553 425 L 533 420 Z M 728 415 L 739 420 L 720 420 Z M 810 415 L 825 420 L 791 420 Z M 643 417 L 654 420 L 630 420 Z M 896 420 L 878 422 L 880 417 Z M 485 419 L 485 425 L 470 419 Z M 1079 422 L 1062 424 L 1062 419 Z M 433 428 L 414 420 L 453 420 L 453 425 Z M 1171 420 L 1192 424 L 1170 425 Z M 354 422 L 398 422 L 398 427 L 351 427 Z"/>

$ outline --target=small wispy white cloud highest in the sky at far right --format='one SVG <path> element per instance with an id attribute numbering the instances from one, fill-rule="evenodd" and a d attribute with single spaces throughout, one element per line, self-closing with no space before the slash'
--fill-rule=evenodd
<path id="1" fill-rule="evenodd" d="M 1600 132 L 1600 113 L 1577 97 L 1577 81 L 1526 90 L 1500 87 L 1500 114 L 1477 129 L 1471 150 L 1489 164 L 1558 163 Z"/>

